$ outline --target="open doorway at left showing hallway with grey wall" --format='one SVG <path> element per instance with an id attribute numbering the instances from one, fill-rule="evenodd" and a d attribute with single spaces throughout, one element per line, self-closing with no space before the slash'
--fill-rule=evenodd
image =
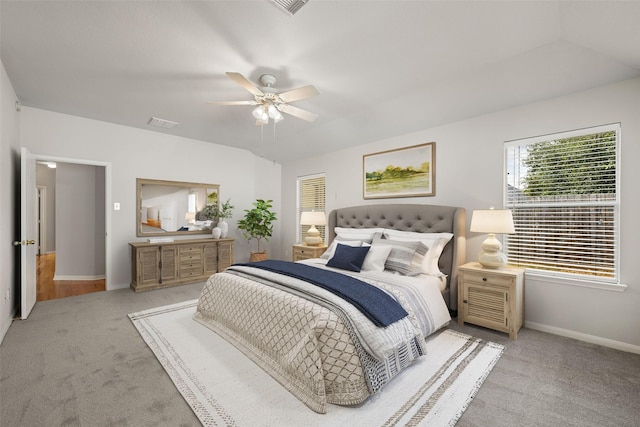
<path id="1" fill-rule="evenodd" d="M 105 166 L 38 161 L 36 301 L 106 289 Z"/>

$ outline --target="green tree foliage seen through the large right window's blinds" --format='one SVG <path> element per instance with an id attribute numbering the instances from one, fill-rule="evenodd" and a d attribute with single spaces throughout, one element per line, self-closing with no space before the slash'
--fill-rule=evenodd
<path id="1" fill-rule="evenodd" d="M 599 139 L 602 144 L 594 144 Z M 527 196 L 615 193 L 615 132 L 544 141 L 523 160 Z M 603 160 L 606 159 L 606 160 Z"/>

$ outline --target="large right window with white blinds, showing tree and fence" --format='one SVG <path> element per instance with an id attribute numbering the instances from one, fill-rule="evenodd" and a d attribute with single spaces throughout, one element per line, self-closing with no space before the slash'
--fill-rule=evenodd
<path id="1" fill-rule="evenodd" d="M 619 124 L 505 143 L 510 264 L 619 280 L 619 146 Z"/>

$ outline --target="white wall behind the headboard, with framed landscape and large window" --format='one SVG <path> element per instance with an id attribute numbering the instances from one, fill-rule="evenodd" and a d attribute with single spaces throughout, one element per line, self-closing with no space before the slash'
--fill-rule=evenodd
<path id="1" fill-rule="evenodd" d="M 463 99 L 460 102 L 464 102 Z M 400 135 L 283 165 L 283 251 L 295 242 L 296 178 L 326 173 L 327 211 L 373 203 L 425 203 L 467 209 L 502 206 L 505 141 L 571 129 L 622 124 L 621 279 L 624 292 L 545 283 L 528 276 L 525 320 L 530 327 L 640 353 L 640 79 Z M 436 142 L 434 197 L 363 200 L 362 156 Z M 469 220 L 467 221 L 467 227 Z M 467 260 L 484 236 L 467 234 Z"/>

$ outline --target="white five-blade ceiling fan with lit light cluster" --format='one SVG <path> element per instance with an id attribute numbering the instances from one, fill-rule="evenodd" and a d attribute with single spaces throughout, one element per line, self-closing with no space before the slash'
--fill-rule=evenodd
<path id="1" fill-rule="evenodd" d="M 290 102 L 300 101 L 319 95 L 320 92 L 315 87 L 309 85 L 292 89 L 286 92 L 277 93 L 273 85 L 276 83 L 276 78 L 272 74 L 263 74 L 260 76 L 260 83 L 262 87 L 257 88 L 246 77 L 240 73 L 227 72 L 232 80 L 238 83 L 240 86 L 248 90 L 254 97 L 253 101 L 220 101 L 209 102 L 212 105 L 257 105 L 258 107 L 253 110 L 253 116 L 256 118 L 257 125 L 264 125 L 269 123 L 269 118 L 276 123 L 282 120 L 282 114 L 280 112 L 290 114 L 299 119 L 313 122 L 318 118 L 318 115 L 309 111 L 303 110 L 293 105 L 289 105 Z"/>

